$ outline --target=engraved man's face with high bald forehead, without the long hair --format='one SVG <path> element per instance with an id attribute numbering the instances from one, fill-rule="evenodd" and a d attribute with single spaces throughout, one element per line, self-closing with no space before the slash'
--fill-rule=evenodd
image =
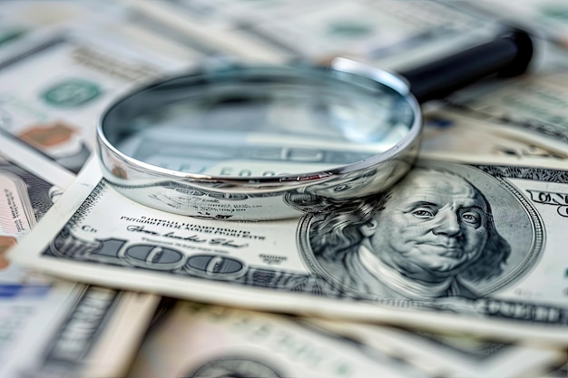
<path id="1" fill-rule="evenodd" d="M 413 170 L 392 190 L 367 229 L 372 250 L 418 279 L 454 276 L 480 256 L 487 240 L 487 203 L 465 179 Z"/>

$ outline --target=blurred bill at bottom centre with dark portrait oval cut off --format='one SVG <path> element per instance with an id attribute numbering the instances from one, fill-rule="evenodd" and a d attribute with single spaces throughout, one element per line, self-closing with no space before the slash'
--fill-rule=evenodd
<path id="1" fill-rule="evenodd" d="M 142 344 L 129 378 L 426 377 L 292 317 L 180 302 Z"/>

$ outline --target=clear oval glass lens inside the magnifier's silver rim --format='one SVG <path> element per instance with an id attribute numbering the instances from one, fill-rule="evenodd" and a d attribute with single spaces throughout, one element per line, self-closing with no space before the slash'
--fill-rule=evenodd
<path id="1" fill-rule="evenodd" d="M 118 150 L 163 169 L 267 177 L 334 170 L 392 149 L 416 121 L 412 101 L 350 73 L 240 67 L 148 87 L 104 124 Z"/>

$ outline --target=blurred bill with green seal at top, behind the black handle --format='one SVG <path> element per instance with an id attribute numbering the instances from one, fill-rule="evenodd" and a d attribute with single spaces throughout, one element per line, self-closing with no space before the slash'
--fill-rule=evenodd
<path id="1" fill-rule="evenodd" d="M 252 24 L 246 32 L 309 59 L 339 53 L 391 67 L 394 62 L 387 62 L 393 55 L 409 53 L 406 63 L 416 66 L 475 40 L 492 24 L 487 17 L 443 2 L 336 1 Z"/>

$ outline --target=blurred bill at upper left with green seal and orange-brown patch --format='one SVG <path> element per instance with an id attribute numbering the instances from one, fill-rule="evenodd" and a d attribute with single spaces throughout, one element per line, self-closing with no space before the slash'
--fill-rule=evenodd
<path id="1" fill-rule="evenodd" d="M 95 125 L 117 96 L 187 67 L 120 35 L 54 29 L 0 63 L 0 131 L 77 172 L 94 148 Z"/>

